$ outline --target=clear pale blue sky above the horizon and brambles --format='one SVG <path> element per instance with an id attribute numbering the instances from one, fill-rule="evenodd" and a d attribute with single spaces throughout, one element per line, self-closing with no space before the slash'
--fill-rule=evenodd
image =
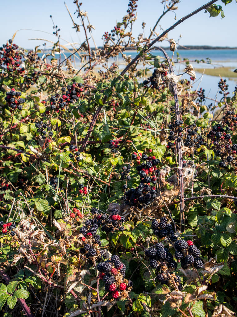
<path id="1" fill-rule="evenodd" d="M 73 0 L 65 0 L 65 2 L 73 14 L 76 10 Z M 179 9 L 176 10 L 177 20 L 206 2 L 207 1 L 204 0 L 181 0 L 178 4 Z M 126 14 L 127 4 L 128 0 L 86 0 L 83 2 L 81 8 L 88 12 L 90 23 L 95 26 L 93 36 L 98 46 L 102 44 L 101 37 L 103 33 L 110 31 L 116 24 L 116 21 L 120 22 L 121 18 Z M 142 31 L 142 22 L 146 23 L 145 35 L 148 36 L 150 27 L 153 28 L 156 20 L 163 11 L 161 1 L 139 0 L 137 4 L 138 19 L 134 24 L 134 35 L 136 39 L 137 35 Z M 178 40 L 179 35 L 181 35 L 181 45 L 205 44 L 237 47 L 235 27 L 237 5 L 235 4 L 235 0 L 226 6 L 221 0 L 219 0 L 217 4 L 222 5 L 225 18 L 221 19 L 220 16 L 215 18 L 209 17 L 209 13 L 201 11 L 197 15 L 192 16 L 189 20 L 181 23 L 168 34 L 168 37 Z M 15 36 L 14 42 L 21 47 L 33 48 L 43 43 L 41 40 L 29 40 L 30 38 L 44 38 L 54 41 L 55 38 L 52 35 L 53 29 L 52 21 L 49 17 L 50 14 L 55 24 L 60 27 L 62 38 L 78 43 L 84 41 L 83 29 L 81 28 L 80 33 L 76 33 L 75 29 L 72 29 L 72 23 L 64 6 L 64 0 L 4 1 L 4 6 L 2 6 L 1 11 L 1 44 L 11 38 L 17 29 L 37 29 L 51 33 L 46 34 L 33 30 L 19 31 Z M 167 29 L 173 23 L 175 23 L 173 12 L 169 12 L 167 16 L 161 20 L 163 29 Z M 157 28 L 157 32 L 160 32 L 159 27 Z M 166 46 L 167 43 L 163 42 L 162 45 Z"/>

